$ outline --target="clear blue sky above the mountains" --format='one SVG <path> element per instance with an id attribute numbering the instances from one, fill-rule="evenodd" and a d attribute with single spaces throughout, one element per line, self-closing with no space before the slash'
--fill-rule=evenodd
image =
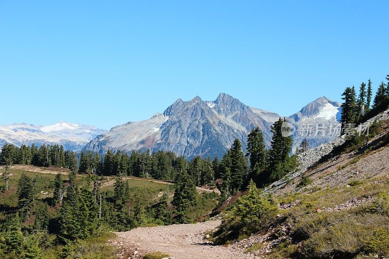
<path id="1" fill-rule="evenodd" d="M 178 98 L 291 115 L 389 74 L 389 1 L 0 0 L 0 124 L 109 129 Z"/>

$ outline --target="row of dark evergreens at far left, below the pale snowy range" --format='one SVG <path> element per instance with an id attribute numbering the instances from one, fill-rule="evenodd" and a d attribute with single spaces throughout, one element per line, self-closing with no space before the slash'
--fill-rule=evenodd
<path id="1" fill-rule="evenodd" d="M 35 165 L 55 166 L 77 170 L 77 158 L 74 152 L 65 151 L 64 147 L 58 145 L 42 145 L 39 149 L 33 144 L 31 147 L 22 145 L 20 148 L 5 144 L 0 153 L 0 164 L 12 165 Z"/>

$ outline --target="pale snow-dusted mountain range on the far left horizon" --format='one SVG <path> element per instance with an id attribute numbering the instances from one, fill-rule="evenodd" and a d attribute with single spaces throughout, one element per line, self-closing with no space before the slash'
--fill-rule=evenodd
<path id="1" fill-rule="evenodd" d="M 67 150 L 81 150 L 91 139 L 106 130 L 65 121 L 42 126 L 27 123 L 0 125 L 0 147 L 5 143 L 21 145 L 60 144 Z"/>

